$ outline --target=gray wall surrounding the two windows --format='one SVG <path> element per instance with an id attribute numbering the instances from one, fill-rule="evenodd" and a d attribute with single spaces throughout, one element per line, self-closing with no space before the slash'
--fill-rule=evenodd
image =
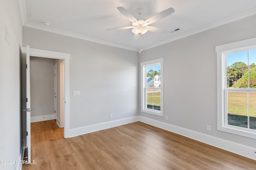
<path id="1" fill-rule="evenodd" d="M 256 37 L 255 21 L 251 16 L 143 51 L 140 62 L 164 58 L 164 117 L 140 115 L 255 148 L 255 139 L 217 131 L 215 53 L 217 45 Z"/>

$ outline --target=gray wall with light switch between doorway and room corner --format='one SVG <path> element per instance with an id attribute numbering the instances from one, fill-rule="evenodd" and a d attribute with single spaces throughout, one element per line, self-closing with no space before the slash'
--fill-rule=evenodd
<path id="1" fill-rule="evenodd" d="M 70 53 L 70 129 L 138 115 L 138 52 L 23 27 L 26 45 Z"/>

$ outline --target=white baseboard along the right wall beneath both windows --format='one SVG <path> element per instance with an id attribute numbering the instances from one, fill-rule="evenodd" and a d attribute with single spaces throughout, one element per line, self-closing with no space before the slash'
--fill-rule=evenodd
<path id="1" fill-rule="evenodd" d="M 139 118 L 139 121 L 143 123 L 146 123 L 155 127 L 159 127 L 161 129 L 171 131 L 173 133 L 177 133 L 179 135 L 194 139 L 196 141 L 200 141 L 202 143 L 206 143 L 208 145 L 212 145 L 214 147 L 218 147 L 220 149 L 224 149 L 229 152 L 233 152 L 235 154 L 239 154 L 241 156 L 245 156 L 247 158 L 256 160 L 256 154 L 255 154 L 256 148 L 247 147 L 245 145 L 241 145 L 231 141 L 226 141 L 224 139 L 212 137 L 210 135 L 206 135 L 196 131 L 191 131 L 189 129 L 184 129 L 182 127 L 170 125 L 168 123 L 156 121 L 154 119 L 149 119 L 142 116 L 138 116 L 138 118 Z"/>

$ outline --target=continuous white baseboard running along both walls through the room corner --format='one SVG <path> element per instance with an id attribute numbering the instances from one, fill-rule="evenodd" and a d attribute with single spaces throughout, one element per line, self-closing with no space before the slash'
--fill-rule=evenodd
<path id="1" fill-rule="evenodd" d="M 75 136 L 83 135 L 86 133 L 100 131 L 100 130 L 108 129 L 111 127 L 116 127 L 116 126 L 120 126 L 120 125 L 124 125 L 124 124 L 128 124 L 128 123 L 133 123 L 136 121 L 141 121 L 143 123 L 146 123 L 146 124 L 149 124 L 149 125 L 152 125 L 155 127 L 159 127 L 161 129 L 171 131 L 173 133 L 177 133 L 179 135 L 194 139 L 196 141 L 200 141 L 202 143 L 206 143 L 208 145 L 212 145 L 214 147 L 218 147 L 220 149 L 224 149 L 229 152 L 233 152 L 235 154 L 239 154 L 241 156 L 245 156 L 247 158 L 256 160 L 256 154 L 255 154 L 256 148 L 248 147 L 248 146 L 234 143 L 231 141 L 226 141 L 224 139 L 220 139 L 217 137 L 213 137 L 213 136 L 199 133 L 196 131 L 192 131 L 189 129 L 184 129 L 182 127 L 170 125 L 168 123 L 156 121 L 154 119 L 149 119 L 149 118 L 142 117 L 142 116 L 128 117 L 125 119 L 119 119 L 119 120 L 115 120 L 115 121 L 99 123 L 96 125 L 90 125 L 90 126 L 80 127 L 80 128 L 76 128 L 76 129 L 70 129 L 70 137 L 75 137 Z"/>

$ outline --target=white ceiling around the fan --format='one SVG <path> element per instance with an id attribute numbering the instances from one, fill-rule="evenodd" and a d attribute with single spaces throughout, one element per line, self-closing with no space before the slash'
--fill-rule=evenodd
<path id="1" fill-rule="evenodd" d="M 141 18 L 174 8 L 170 16 L 152 23 L 168 31 L 160 34 L 148 31 L 142 35 L 142 49 L 150 49 L 188 35 L 217 27 L 256 14 L 256 0 L 19 0 L 24 26 L 68 35 L 89 41 L 139 51 L 140 42 L 133 40 L 131 29 L 107 31 L 130 26 L 131 21 L 116 8 L 128 10 L 135 18 L 137 8 L 143 8 Z M 43 21 L 50 23 L 45 26 Z"/>

